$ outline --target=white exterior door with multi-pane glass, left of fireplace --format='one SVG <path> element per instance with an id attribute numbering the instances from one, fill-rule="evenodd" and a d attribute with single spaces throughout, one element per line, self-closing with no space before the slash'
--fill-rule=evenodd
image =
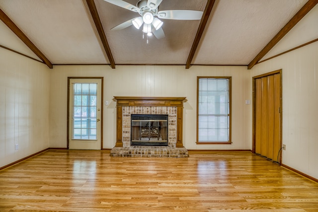
<path id="1" fill-rule="evenodd" d="M 70 149 L 101 149 L 101 83 L 99 78 L 70 79 Z"/>

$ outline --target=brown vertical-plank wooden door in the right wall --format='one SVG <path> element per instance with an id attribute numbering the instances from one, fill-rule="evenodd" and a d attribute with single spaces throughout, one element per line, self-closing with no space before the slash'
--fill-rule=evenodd
<path id="1" fill-rule="evenodd" d="M 281 147 L 280 75 L 254 77 L 254 151 L 275 162 Z"/>

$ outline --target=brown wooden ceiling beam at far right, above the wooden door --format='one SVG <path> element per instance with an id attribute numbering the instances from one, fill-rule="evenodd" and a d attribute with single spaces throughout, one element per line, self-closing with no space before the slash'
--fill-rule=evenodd
<path id="1" fill-rule="evenodd" d="M 273 37 L 271 41 L 248 64 L 247 69 L 252 69 L 312 8 L 318 0 L 308 0 L 307 3 L 288 21 L 288 23 Z"/>

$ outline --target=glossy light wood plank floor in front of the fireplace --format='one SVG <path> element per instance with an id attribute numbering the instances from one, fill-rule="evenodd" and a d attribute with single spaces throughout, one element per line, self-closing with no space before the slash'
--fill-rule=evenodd
<path id="1" fill-rule="evenodd" d="M 251 152 L 48 150 L 0 171 L 0 212 L 318 212 L 318 184 Z"/>

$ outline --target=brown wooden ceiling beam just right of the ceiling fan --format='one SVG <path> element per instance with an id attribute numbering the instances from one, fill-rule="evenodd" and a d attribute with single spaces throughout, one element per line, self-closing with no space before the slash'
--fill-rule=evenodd
<path id="1" fill-rule="evenodd" d="M 208 22 L 209 17 L 210 17 L 214 2 L 215 2 L 215 0 L 208 0 L 207 1 L 204 12 L 202 14 L 202 18 L 201 18 L 201 22 L 200 22 L 197 34 L 195 35 L 195 38 L 194 38 L 194 41 L 193 41 L 186 65 L 185 65 L 186 69 L 189 69 L 191 66 L 191 62 L 193 60 L 194 54 L 195 54 L 195 52 L 198 48 L 198 45 L 200 43 L 204 28 Z"/>

